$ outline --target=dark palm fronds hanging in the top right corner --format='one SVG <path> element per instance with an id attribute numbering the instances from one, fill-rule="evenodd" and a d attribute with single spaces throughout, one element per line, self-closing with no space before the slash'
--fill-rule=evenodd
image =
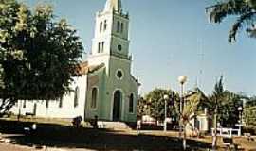
<path id="1" fill-rule="evenodd" d="M 229 31 L 229 42 L 235 42 L 237 33 L 246 28 L 249 37 L 256 38 L 256 0 L 222 0 L 206 8 L 211 23 L 221 23 L 229 16 L 238 16 Z"/>

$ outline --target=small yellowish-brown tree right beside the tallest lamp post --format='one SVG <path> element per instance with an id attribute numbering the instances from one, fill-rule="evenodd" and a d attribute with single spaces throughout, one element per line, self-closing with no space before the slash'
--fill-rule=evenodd
<path id="1" fill-rule="evenodd" d="M 184 127 L 183 132 L 183 149 L 186 150 L 186 126 L 192 125 L 190 122 L 195 118 L 195 112 L 198 109 L 198 105 L 208 100 L 208 97 L 199 88 L 195 88 L 185 96 L 185 105 L 181 113 L 181 123 Z"/>

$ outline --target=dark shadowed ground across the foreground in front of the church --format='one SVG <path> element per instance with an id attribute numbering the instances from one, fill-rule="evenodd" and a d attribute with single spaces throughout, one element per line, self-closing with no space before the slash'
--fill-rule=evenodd
<path id="1" fill-rule="evenodd" d="M 0 151 L 93 151 L 93 150 L 149 150 L 149 151 L 180 151 L 182 140 L 178 132 L 162 130 L 93 129 L 75 128 L 58 124 L 37 123 L 36 131 L 26 131 L 29 122 L 0 120 Z M 2 137 L 2 138 L 1 138 Z M 188 137 L 190 150 L 205 151 L 211 148 L 212 138 Z M 244 151 L 256 151 L 256 138 L 235 138 L 235 143 L 245 148 Z M 218 139 L 218 151 L 224 151 L 221 139 Z M 46 147 L 49 146 L 49 147 Z M 57 148 L 56 148 L 57 147 Z"/>

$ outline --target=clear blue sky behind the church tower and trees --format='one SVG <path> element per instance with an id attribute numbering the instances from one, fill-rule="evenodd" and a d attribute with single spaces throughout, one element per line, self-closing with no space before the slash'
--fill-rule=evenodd
<path id="1" fill-rule="evenodd" d="M 23 1 L 29 6 L 52 4 L 55 14 L 78 30 L 86 52 L 90 51 L 95 13 L 106 0 Z M 223 75 L 226 89 L 256 94 L 256 40 L 241 31 L 238 42 L 230 44 L 232 19 L 213 25 L 205 13 L 205 8 L 214 2 L 122 0 L 131 19 L 130 52 L 133 74 L 142 83 L 140 93 L 155 87 L 179 91 L 177 76 L 186 75 L 186 89 L 192 89 L 197 79 L 202 90 L 210 94 L 217 78 Z"/>

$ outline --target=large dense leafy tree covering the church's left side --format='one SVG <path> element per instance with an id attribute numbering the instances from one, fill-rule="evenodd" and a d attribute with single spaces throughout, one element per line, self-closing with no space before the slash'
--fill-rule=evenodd
<path id="1" fill-rule="evenodd" d="M 82 56 L 82 43 L 53 8 L 31 11 L 16 0 L 0 0 L 0 112 L 18 99 L 56 99 L 70 91 Z"/>

